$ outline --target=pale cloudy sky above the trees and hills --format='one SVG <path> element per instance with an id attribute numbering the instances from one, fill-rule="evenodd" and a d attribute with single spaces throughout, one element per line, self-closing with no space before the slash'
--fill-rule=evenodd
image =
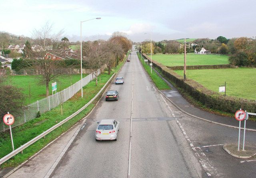
<path id="1" fill-rule="evenodd" d="M 0 0 L 0 13 L 0 32 L 32 37 L 50 22 L 52 33 L 64 30 L 71 42 L 85 20 L 85 41 L 117 31 L 133 42 L 256 36 L 255 0 Z"/>

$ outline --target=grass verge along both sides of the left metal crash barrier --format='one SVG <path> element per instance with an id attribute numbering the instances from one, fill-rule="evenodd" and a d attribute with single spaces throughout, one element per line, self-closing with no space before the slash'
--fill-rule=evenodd
<path id="1" fill-rule="evenodd" d="M 126 55 L 126 58 L 127 56 L 128 53 Z M 116 68 L 112 69 L 110 75 L 108 75 L 107 71 L 104 71 L 104 73 L 101 74 L 98 78 L 98 86 L 95 86 L 95 79 L 89 82 L 86 86 L 84 86 L 84 98 L 81 98 L 81 93 L 78 92 L 68 101 L 64 102 L 63 116 L 61 115 L 60 106 L 58 106 L 49 112 L 41 114 L 39 118 L 35 118 L 29 122 L 26 122 L 25 124 L 12 128 L 14 148 L 22 146 L 26 142 L 42 134 L 42 132 L 48 130 L 56 123 L 64 120 L 65 118 L 82 108 L 82 106 L 88 103 L 100 91 L 104 84 L 106 84 L 106 82 L 110 79 L 112 74 L 114 74 L 114 72 L 117 72 L 123 66 L 126 58 L 124 58 L 124 60 L 120 62 L 118 66 L 116 66 Z M 30 145 L 28 148 L 24 149 L 23 154 L 17 154 L 13 156 L 10 160 L 1 164 L 0 168 L 2 169 L 6 167 L 18 166 L 19 164 L 33 156 L 36 152 L 44 148 L 44 146 L 46 146 L 52 140 L 56 139 L 62 133 L 66 132 L 68 129 L 74 126 L 74 124 L 84 118 L 94 108 L 95 104 L 101 98 L 103 92 L 104 91 L 102 91 L 102 93 L 94 100 L 94 102 L 92 102 L 92 104 L 82 110 L 82 112 L 80 112 L 74 118 L 70 119 L 66 123 L 62 124 L 62 126 L 47 134 L 45 138 L 38 140 L 34 144 Z M 0 158 L 12 152 L 10 134 L 8 131 L 0 133 L 0 150 Z"/>

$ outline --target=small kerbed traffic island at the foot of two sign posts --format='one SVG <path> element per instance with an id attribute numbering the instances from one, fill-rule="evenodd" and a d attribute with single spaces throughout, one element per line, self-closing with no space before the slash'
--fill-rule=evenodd
<path id="1" fill-rule="evenodd" d="M 223 145 L 223 149 L 228 152 L 231 156 L 236 158 L 251 158 L 252 156 L 256 155 L 256 148 L 254 146 L 246 146 L 245 151 L 237 151 L 237 144 L 225 144 Z M 246 156 L 248 155 L 248 156 Z"/>

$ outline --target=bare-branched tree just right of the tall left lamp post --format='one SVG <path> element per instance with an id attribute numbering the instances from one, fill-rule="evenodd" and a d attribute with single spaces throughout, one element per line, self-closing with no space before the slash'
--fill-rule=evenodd
<path id="1" fill-rule="evenodd" d="M 104 65 L 104 46 L 98 43 L 90 43 L 88 51 L 86 52 L 85 62 L 88 64 L 88 68 L 94 73 L 96 77 L 96 85 L 98 85 L 97 70 Z"/>

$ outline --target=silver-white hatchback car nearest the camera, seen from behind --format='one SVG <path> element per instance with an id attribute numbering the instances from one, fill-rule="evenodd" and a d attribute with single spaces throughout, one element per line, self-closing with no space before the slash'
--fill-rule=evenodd
<path id="1" fill-rule="evenodd" d="M 117 140 L 119 122 L 113 119 L 104 119 L 97 123 L 96 140 Z"/>

